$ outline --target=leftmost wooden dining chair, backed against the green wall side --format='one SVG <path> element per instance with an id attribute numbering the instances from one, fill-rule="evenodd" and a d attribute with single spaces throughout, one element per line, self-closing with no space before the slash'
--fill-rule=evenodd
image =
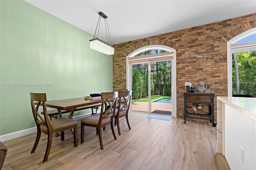
<path id="1" fill-rule="evenodd" d="M 43 162 L 47 161 L 48 156 L 50 154 L 53 134 L 60 132 L 61 140 L 63 141 L 64 131 L 74 129 L 74 132 L 73 132 L 74 146 L 75 147 L 77 146 L 78 144 L 77 121 L 63 118 L 63 117 L 50 121 L 48 118 L 47 110 L 46 110 L 46 93 L 30 93 L 30 102 L 31 102 L 33 117 L 37 127 L 36 141 L 31 150 L 31 154 L 34 153 L 36 150 L 36 147 L 40 140 L 41 132 L 44 134 L 48 134 L 47 147 L 46 147 L 46 152 L 44 155 Z M 40 106 L 42 106 L 42 109 L 43 109 L 43 113 L 44 113 L 43 116 L 41 116 L 41 114 L 38 113 L 38 109 Z"/>

